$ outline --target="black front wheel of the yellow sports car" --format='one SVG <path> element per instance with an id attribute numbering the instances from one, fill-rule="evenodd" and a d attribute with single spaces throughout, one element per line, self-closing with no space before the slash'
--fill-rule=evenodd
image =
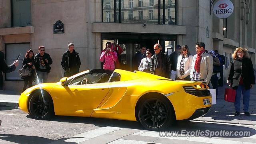
<path id="1" fill-rule="evenodd" d="M 52 98 L 50 95 L 44 93 L 43 95 L 42 97 L 41 93 L 34 93 L 28 103 L 30 115 L 36 119 L 48 119 L 54 116 Z"/>

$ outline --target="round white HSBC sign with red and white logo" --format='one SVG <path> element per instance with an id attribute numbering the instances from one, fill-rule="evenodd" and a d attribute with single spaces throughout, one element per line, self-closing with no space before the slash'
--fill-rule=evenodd
<path id="1" fill-rule="evenodd" d="M 233 11 L 234 5 L 230 0 L 219 0 L 213 7 L 213 12 L 218 18 L 228 18 Z"/>

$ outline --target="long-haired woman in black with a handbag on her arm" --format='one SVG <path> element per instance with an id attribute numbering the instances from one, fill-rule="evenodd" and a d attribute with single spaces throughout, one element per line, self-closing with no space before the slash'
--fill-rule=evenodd
<path id="1" fill-rule="evenodd" d="M 35 61 L 34 61 L 34 52 L 30 49 L 26 52 L 26 55 L 22 61 L 22 67 L 24 69 L 29 68 L 31 71 L 31 75 L 28 76 L 24 76 L 21 77 L 22 79 L 24 79 L 24 86 L 22 89 L 22 92 L 24 92 L 27 89 L 27 85 L 28 87 L 32 86 L 32 82 L 35 79 Z"/>

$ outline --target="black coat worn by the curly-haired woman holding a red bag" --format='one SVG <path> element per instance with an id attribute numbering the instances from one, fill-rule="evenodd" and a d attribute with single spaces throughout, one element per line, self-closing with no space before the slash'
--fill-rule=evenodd
<path id="1" fill-rule="evenodd" d="M 231 63 L 228 80 L 231 81 L 232 89 L 237 89 L 240 78 L 243 79 L 245 89 L 250 89 L 255 84 L 252 61 L 249 58 L 242 60 L 236 58 Z"/>

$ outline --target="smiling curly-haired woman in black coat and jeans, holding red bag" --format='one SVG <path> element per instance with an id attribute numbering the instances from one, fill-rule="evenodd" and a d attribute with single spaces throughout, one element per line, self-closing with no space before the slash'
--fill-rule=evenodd
<path id="1" fill-rule="evenodd" d="M 250 116 L 249 102 L 250 89 L 255 84 L 254 70 L 252 61 L 249 57 L 247 49 L 238 47 L 232 54 L 234 61 L 231 63 L 230 73 L 228 76 L 228 85 L 232 89 L 236 89 L 235 99 L 235 116 L 240 114 L 241 91 L 243 94 L 244 114 Z"/>

